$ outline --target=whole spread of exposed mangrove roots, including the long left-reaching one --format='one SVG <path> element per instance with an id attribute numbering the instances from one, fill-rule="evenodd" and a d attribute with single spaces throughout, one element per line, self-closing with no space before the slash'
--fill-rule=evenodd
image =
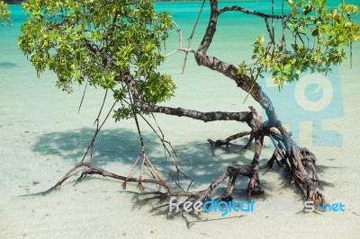
<path id="1" fill-rule="evenodd" d="M 250 135 L 250 138 L 253 137 L 255 140 L 255 153 L 251 165 L 243 166 L 240 168 L 229 166 L 225 173 L 221 174 L 220 177 L 217 180 L 213 181 L 211 185 L 205 190 L 183 190 L 181 187 L 179 187 L 178 183 L 175 183 L 174 186 L 171 183 L 162 180 L 159 171 L 148 159 L 148 156 L 145 154 L 145 150 L 142 147 L 141 153 L 135 160 L 135 163 L 131 166 L 130 172 L 126 176 L 111 173 L 91 163 L 85 163 L 81 161 L 76 164 L 76 166 L 72 168 L 69 172 L 67 172 L 54 187 L 45 192 L 42 192 L 42 195 L 49 193 L 52 190 L 56 190 L 64 181 L 67 181 L 69 177 L 73 176 L 76 173 L 81 173 L 78 181 L 83 180 L 87 175 L 97 174 L 103 177 L 109 177 L 112 179 L 123 181 L 122 186 L 124 188 L 126 187 L 126 183 L 128 181 L 138 182 L 139 190 L 144 190 L 143 183 L 157 184 L 159 186 L 158 195 L 153 198 L 170 199 L 171 197 L 175 197 L 175 201 L 180 202 L 181 208 L 184 206 L 185 202 L 191 202 L 191 204 L 193 204 L 196 201 L 203 202 L 206 200 L 210 200 L 212 198 L 214 190 L 218 188 L 220 183 L 227 179 L 228 186 L 225 193 L 220 197 L 220 200 L 232 200 L 232 193 L 235 189 L 235 183 L 238 180 L 239 176 L 246 177 L 248 179 L 248 198 L 263 194 L 264 190 L 261 187 L 259 170 L 262 168 L 272 168 L 273 164 L 276 162 L 279 166 L 284 166 L 285 170 L 289 173 L 288 175 L 290 177 L 290 180 L 294 181 L 296 187 L 302 192 L 304 199 L 314 201 L 315 205 L 323 204 L 325 202 L 325 198 L 320 193 L 320 191 L 317 190 L 320 180 L 316 174 L 314 167 L 314 164 L 316 162 L 315 156 L 312 155 L 308 149 L 296 146 L 291 137 L 287 135 L 282 135 L 278 130 L 275 130 L 274 128 L 264 127 L 262 118 L 257 114 L 257 111 L 255 111 L 253 108 L 250 108 L 250 110 L 252 111 L 253 117 L 247 116 L 246 119 L 247 125 L 251 128 L 251 131 L 238 133 L 236 135 L 228 137 L 225 140 L 216 140 L 215 142 L 209 140 L 209 142 L 211 143 L 211 146 L 223 146 L 229 144 L 230 140 Z M 138 122 L 137 125 L 139 126 Z M 264 145 L 264 137 L 266 136 L 272 139 L 276 149 L 270 160 L 265 165 L 260 167 L 259 159 L 262 147 Z M 142 143 L 143 141 L 140 131 L 139 137 Z M 278 157 L 280 157 L 280 160 L 278 160 Z M 136 167 L 140 168 L 139 177 L 133 176 Z M 310 177 L 310 174 L 306 169 L 310 169 L 312 171 L 312 178 Z M 151 179 L 148 179 L 144 176 L 145 170 L 148 170 L 148 172 L 151 174 Z"/>

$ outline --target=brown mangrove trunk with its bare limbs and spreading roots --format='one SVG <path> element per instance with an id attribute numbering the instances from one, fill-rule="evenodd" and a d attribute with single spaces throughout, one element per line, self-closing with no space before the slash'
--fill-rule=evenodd
<path id="1" fill-rule="evenodd" d="M 255 139 L 255 154 L 253 157 L 253 161 L 250 166 L 243 166 L 241 168 L 228 167 L 225 170 L 225 173 L 220 175 L 220 177 L 213 181 L 211 185 L 202 191 L 190 192 L 187 190 L 175 190 L 173 186 L 169 183 L 162 181 L 159 177 L 154 176 L 154 179 L 142 179 L 141 175 L 139 178 L 131 177 L 131 173 L 127 176 L 119 176 L 114 173 L 109 173 L 96 167 L 92 164 L 87 164 L 81 161 L 76 165 L 73 169 L 71 169 L 58 183 L 51 188 L 49 191 L 54 190 L 59 185 L 66 181 L 67 178 L 76 172 L 76 169 L 81 168 L 82 174 L 80 179 L 84 178 L 88 174 L 100 174 L 104 177 L 112 177 L 115 179 L 119 179 L 121 181 L 137 181 L 139 184 L 141 182 L 155 183 L 166 189 L 166 193 L 160 193 L 161 197 L 172 197 L 175 196 L 177 199 L 180 197 L 187 197 L 186 201 L 196 201 L 196 200 L 206 200 L 211 198 L 211 193 L 215 188 L 220 185 L 221 181 L 229 178 L 228 188 L 225 194 L 221 197 L 221 199 L 231 199 L 232 190 L 235 187 L 235 182 L 238 179 L 238 176 L 244 176 L 249 179 L 247 185 L 247 195 L 248 197 L 253 197 L 258 194 L 264 193 L 264 190 L 261 187 L 261 182 L 259 178 L 259 170 L 262 168 L 271 168 L 276 161 L 277 164 L 284 167 L 285 171 L 289 172 L 290 178 L 294 181 L 295 185 L 299 190 L 301 190 L 304 199 L 314 201 L 315 205 L 320 205 L 324 203 L 324 196 L 317 190 L 318 184 L 320 183 L 314 168 L 314 164 L 316 158 L 311 154 L 309 150 L 306 148 L 301 148 L 295 144 L 291 136 L 289 136 L 284 127 L 282 126 L 281 121 L 277 118 L 275 113 L 275 108 L 273 103 L 263 92 L 260 85 L 257 82 L 252 81 L 250 77 L 247 75 L 239 75 L 238 68 L 236 66 L 230 65 L 225 61 L 222 61 L 218 58 L 214 58 L 208 56 L 207 50 L 211 45 L 211 40 L 216 31 L 218 17 L 221 13 L 226 13 L 228 11 L 239 11 L 242 13 L 251 13 L 257 15 L 262 18 L 273 18 L 273 19 L 282 19 L 283 16 L 278 15 L 268 15 L 265 13 L 256 13 L 249 10 L 244 10 L 240 7 L 225 7 L 223 9 L 218 9 L 218 1 L 211 0 L 211 15 L 210 21 L 208 23 L 205 34 L 202 38 L 202 42 L 199 48 L 196 51 L 188 50 L 187 52 L 192 52 L 194 54 L 194 58 L 199 66 L 205 66 L 210 68 L 211 70 L 217 71 L 223 75 L 226 75 L 231 80 L 233 80 L 238 87 L 240 87 L 243 91 L 250 93 L 251 96 L 262 106 L 262 108 L 266 111 L 267 121 L 263 122 L 262 117 L 255 111 L 254 108 L 250 107 L 250 111 L 244 112 L 221 112 L 221 111 L 213 111 L 213 112 L 201 112 L 201 111 L 193 111 L 183 108 L 171 108 L 166 106 L 158 106 L 149 104 L 148 102 L 144 102 L 141 100 L 141 96 L 136 89 L 136 84 L 134 79 L 131 78 L 130 75 L 117 75 L 116 77 L 121 77 L 124 84 L 129 89 L 130 96 L 130 104 L 134 107 L 135 118 L 136 115 L 139 114 L 139 111 L 147 111 L 147 112 L 155 112 L 155 113 L 164 113 L 169 115 L 175 115 L 179 117 L 188 117 L 194 120 L 202 120 L 202 121 L 212 121 L 212 120 L 238 120 L 241 122 L 246 122 L 249 128 L 251 129 L 248 132 L 237 133 L 233 136 L 230 136 L 226 139 L 219 140 L 211 140 L 208 141 L 211 143 L 211 146 L 222 146 L 228 145 L 230 140 L 233 140 L 238 137 L 245 137 L 249 135 L 249 141 L 247 146 L 250 145 L 251 141 Z M 137 110 L 136 110 L 137 109 Z M 137 123 L 138 125 L 138 123 Z M 139 129 L 139 125 L 138 125 Z M 139 135 L 140 135 L 139 131 Z M 95 135 L 96 136 L 96 135 Z M 262 167 L 259 165 L 259 159 L 261 155 L 262 146 L 264 144 L 264 137 L 270 137 L 271 141 L 275 146 L 275 152 L 270 158 L 270 160 Z M 160 138 L 160 137 L 159 137 Z M 160 138 L 164 143 L 164 138 Z M 280 162 L 277 160 L 277 157 L 280 156 Z M 135 164 L 137 164 L 139 158 L 143 159 L 142 167 L 144 165 L 151 166 L 151 170 L 156 175 L 156 169 L 151 165 L 148 160 L 148 157 L 144 152 L 136 160 Z M 83 159 L 84 160 L 84 159 Z M 147 160 L 147 161 L 146 161 Z M 146 163 L 148 162 L 148 163 Z M 134 164 L 134 165 L 135 165 Z M 133 166 L 134 167 L 134 166 Z M 309 176 L 307 168 L 310 168 L 313 177 Z M 177 169 L 177 166 L 176 166 Z M 132 172 L 132 169 L 131 171 Z M 142 172 L 142 168 L 141 168 Z M 125 185 L 125 184 L 124 184 Z M 49 192 L 47 191 L 47 192 Z"/>

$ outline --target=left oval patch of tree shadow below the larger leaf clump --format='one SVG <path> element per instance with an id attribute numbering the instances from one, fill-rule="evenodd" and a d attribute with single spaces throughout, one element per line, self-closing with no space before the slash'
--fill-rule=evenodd
<path id="1" fill-rule="evenodd" d="M 94 128 L 45 133 L 37 138 L 32 150 L 41 155 L 58 155 L 76 164 L 84 156 L 94 137 Z M 145 134 L 149 153 L 160 144 L 152 135 Z M 120 162 L 130 164 L 140 152 L 139 135 L 129 129 L 103 129 L 94 141 L 94 164 Z"/>

